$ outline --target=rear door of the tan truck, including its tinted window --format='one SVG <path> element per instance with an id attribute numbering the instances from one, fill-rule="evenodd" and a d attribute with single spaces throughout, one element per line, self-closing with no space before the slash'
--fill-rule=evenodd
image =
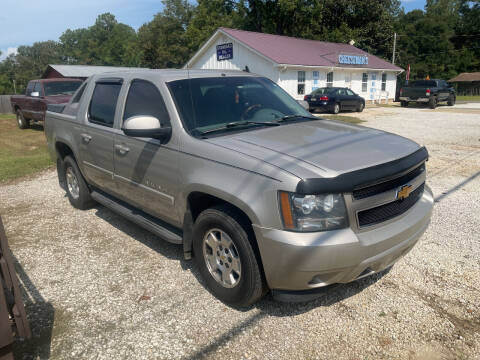
<path id="1" fill-rule="evenodd" d="M 100 189 L 115 193 L 113 139 L 121 78 L 100 78 L 95 82 L 87 110 L 86 126 L 80 133 L 85 176 Z"/>

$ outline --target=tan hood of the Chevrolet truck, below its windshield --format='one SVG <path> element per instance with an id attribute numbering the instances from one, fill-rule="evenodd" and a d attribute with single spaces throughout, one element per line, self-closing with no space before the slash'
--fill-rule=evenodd
<path id="1" fill-rule="evenodd" d="M 331 120 L 292 123 L 207 140 L 300 178 L 334 177 L 412 154 L 404 137 Z"/>

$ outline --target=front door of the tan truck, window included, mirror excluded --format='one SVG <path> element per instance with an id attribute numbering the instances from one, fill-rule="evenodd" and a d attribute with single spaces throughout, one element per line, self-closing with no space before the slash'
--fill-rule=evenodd
<path id="1" fill-rule="evenodd" d="M 158 88 L 135 79 L 128 90 L 123 121 L 133 116 L 153 116 L 162 126 L 170 119 Z M 115 181 L 121 197 L 141 210 L 166 221 L 178 221 L 174 211 L 178 188 L 178 153 L 157 139 L 115 135 Z"/>

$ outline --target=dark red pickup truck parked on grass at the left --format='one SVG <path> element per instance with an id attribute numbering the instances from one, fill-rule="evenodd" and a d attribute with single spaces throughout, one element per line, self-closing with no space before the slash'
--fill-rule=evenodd
<path id="1" fill-rule="evenodd" d="M 25 95 L 13 95 L 10 99 L 18 127 L 26 129 L 30 121 L 43 122 L 47 105 L 67 103 L 82 82 L 68 78 L 31 80 Z"/>

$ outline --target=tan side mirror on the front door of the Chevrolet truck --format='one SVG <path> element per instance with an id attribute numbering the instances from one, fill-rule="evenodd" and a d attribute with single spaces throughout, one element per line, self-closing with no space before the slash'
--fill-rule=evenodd
<path id="1" fill-rule="evenodd" d="M 160 124 L 153 116 L 132 116 L 123 122 L 122 131 L 127 136 L 168 140 L 172 134 L 170 126 Z"/>

